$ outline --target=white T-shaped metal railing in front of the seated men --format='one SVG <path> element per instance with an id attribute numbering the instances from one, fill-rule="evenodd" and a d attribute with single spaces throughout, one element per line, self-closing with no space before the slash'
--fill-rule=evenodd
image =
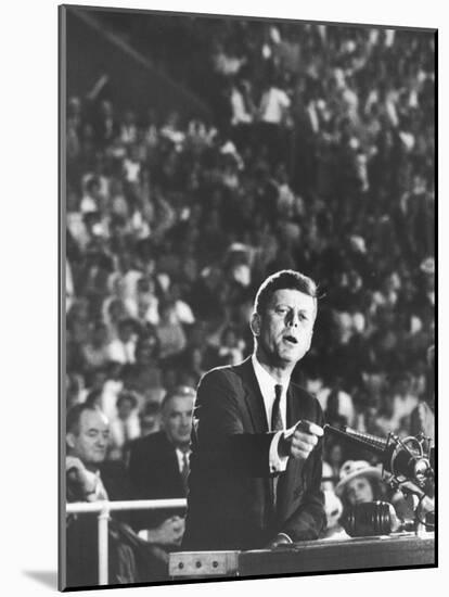
<path id="1" fill-rule="evenodd" d="M 99 513 L 99 584 L 107 585 L 108 539 L 107 523 L 110 512 L 123 510 L 161 510 L 162 508 L 185 508 L 187 499 L 132 499 L 128 501 L 76 501 L 66 505 L 67 515 Z"/>

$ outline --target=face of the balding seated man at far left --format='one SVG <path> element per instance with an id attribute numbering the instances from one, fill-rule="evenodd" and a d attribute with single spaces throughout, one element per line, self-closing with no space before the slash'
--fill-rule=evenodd
<path id="1" fill-rule="evenodd" d="M 67 433 L 67 444 L 73 456 L 86 466 L 97 466 L 106 456 L 110 430 L 106 417 L 95 410 L 84 410 L 79 420 L 79 433 Z"/>

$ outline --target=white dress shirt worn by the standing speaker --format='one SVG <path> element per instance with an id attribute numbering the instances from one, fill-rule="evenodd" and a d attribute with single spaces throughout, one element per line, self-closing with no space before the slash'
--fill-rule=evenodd
<path id="1" fill-rule="evenodd" d="M 286 429 L 286 391 L 288 388 L 287 380 L 285 383 L 280 384 L 278 380 L 272 378 L 268 371 L 264 369 L 260 363 L 257 360 L 255 354 L 252 356 L 252 363 L 254 367 L 254 372 L 256 374 L 257 382 L 260 388 L 260 393 L 264 398 L 265 411 L 267 414 L 268 428 L 271 431 L 271 414 L 273 410 L 273 404 L 275 398 L 275 385 L 282 385 L 281 399 L 279 403 L 279 408 L 281 411 L 281 419 L 284 429 Z M 283 431 L 278 431 L 274 437 L 272 439 L 269 453 L 269 465 L 271 472 L 282 472 L 286 469 L 287 456 L 280 457 L 278 454 L 278 444 Z"/>

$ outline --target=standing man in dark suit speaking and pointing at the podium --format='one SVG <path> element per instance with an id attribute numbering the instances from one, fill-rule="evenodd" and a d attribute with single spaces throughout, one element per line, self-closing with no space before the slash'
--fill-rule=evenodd
<path id="1" fill-rule="evenodd" d="M 291 382 L 310 348 L 317 287 L 293 270 L 260 285 L 254 354 L 200 382 L 182 549 L 258 549 L 315 539 L 324 525 L 318 401 Z"/>

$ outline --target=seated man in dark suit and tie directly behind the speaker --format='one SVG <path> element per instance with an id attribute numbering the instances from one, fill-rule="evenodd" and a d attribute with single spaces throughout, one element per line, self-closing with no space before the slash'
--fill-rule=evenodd
<path id="1" fill-rule="evenodd" d="M 130 444 L 129 475 L 138 499 L 185 497 L 190 434 L 195 392 L 178 386 L 163 399 L 162 430 Z M 142 513 L 145 538 L 168 548 L 179 546 L 184 532 L 184 510 Z"/>

